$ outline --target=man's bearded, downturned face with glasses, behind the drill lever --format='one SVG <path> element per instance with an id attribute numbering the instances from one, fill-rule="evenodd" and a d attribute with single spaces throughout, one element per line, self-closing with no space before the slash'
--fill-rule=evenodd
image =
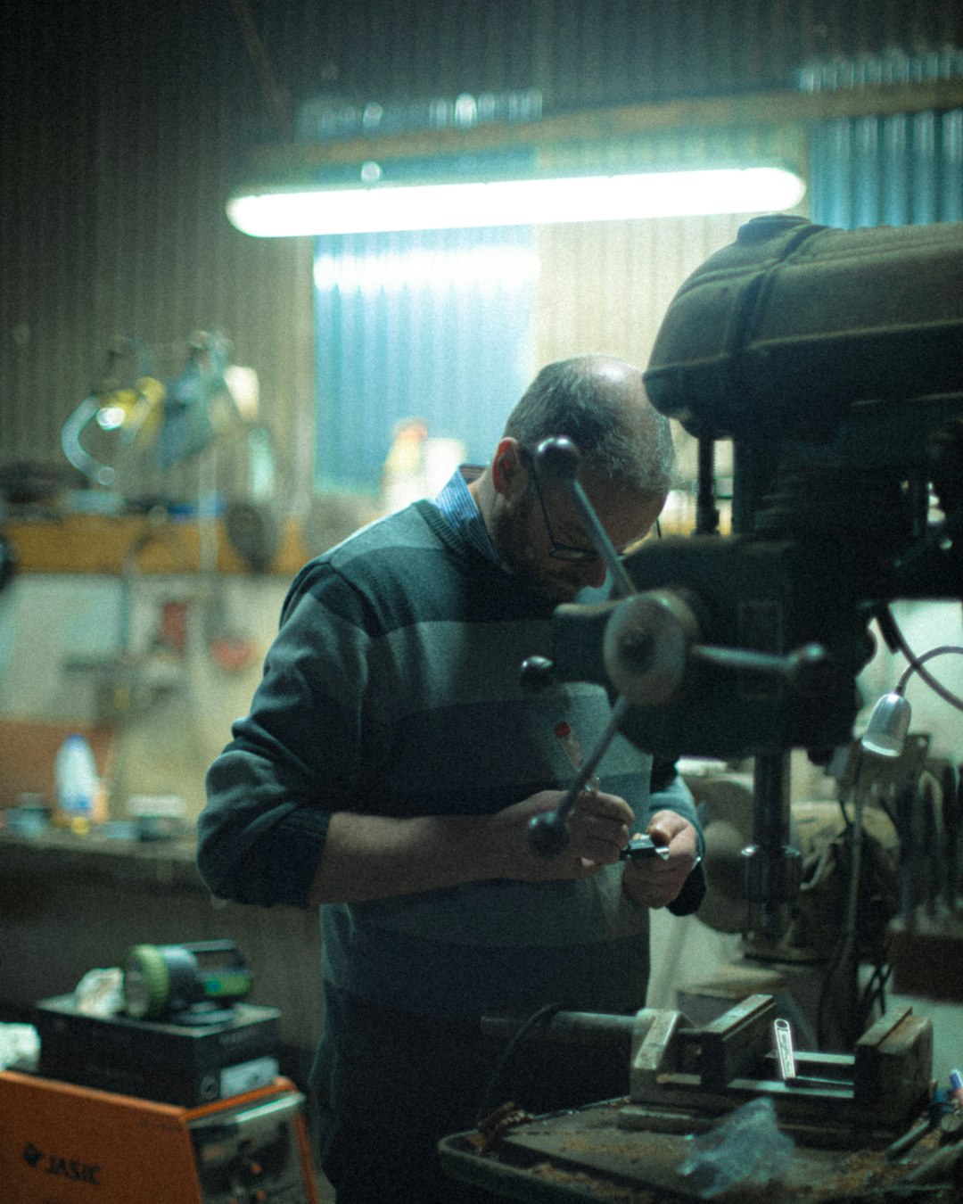
<path id="1" fill-rule="evenodd" d="M 642 501 L 591 473 L 579 479 L 616 551 L 646 535 L 662 510 L 662 498 Z M 551 483 L 539 484 L 540 502 L 530 482 L 530 488 L 495 517 L 492 537 L 502 560 L 524 585 L 553 604 L 571 602 L 580 590 L 602 585 L 605 566 L 598 556 L 562 560 L 551 554 L 553 543 L 585 551 L 593 548 L 568 494 Z"/>

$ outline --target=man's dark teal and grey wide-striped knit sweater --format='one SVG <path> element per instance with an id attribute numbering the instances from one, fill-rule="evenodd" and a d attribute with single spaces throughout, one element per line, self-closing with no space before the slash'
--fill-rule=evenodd
<path id="1" fill-rule="evenodd" d="M 199 867 L 214 895 L 307 905 L 330 815 L 489 814 L 573 769 L 609 715 L 585 683 L 522 690 L 551 655 L 551 608 L 471 548 L 430 502 L 372 524 L 294 582 L 250 713 L 212 765 Z M 616 737 L 598 775 L 634 809 L 695 822 L 677 779 Z M 644 1003 L 648 911 L 621 867 L 578 881 L 495 880 L 321 908 L 325 991 L 425 1016 L 525 1013 L 544 1002 Z M 329 1034 L 331 1035 L 331 1034 Z"/>

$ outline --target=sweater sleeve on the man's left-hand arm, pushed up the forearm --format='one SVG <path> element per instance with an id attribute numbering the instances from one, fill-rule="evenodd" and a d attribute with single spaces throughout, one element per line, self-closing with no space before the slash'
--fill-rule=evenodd
<path id="1" fill-rule="evenodd" d="M 215 896 L 308 905 L 331 813 L 351 805 L 371 767 L 360 755 L 367 645 L 354 591 L 327 566 L 302 571 L 250 712 L 207 772 L 197 868 Z"/>

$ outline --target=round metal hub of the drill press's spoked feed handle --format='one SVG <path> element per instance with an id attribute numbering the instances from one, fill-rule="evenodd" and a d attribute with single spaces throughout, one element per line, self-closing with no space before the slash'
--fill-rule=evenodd
<path id="1" fill-rule="evenodd" d="M 612 684 L 633 706 L 663 706 L 681 684 L 698 635 L 698 620 L 680 594 L 650 590 L 624 598 L 602 641 Z"/>

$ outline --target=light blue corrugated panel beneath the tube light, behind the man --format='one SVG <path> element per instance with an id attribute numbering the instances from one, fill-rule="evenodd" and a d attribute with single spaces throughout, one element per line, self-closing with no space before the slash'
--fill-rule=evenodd
<path id="1" fill-rule="evenodd" d="M 319 489 L 377 489 L 392 429 L 423 418 L 485 461 L 534 371 L 534 230 L 317 240 Z"/>

